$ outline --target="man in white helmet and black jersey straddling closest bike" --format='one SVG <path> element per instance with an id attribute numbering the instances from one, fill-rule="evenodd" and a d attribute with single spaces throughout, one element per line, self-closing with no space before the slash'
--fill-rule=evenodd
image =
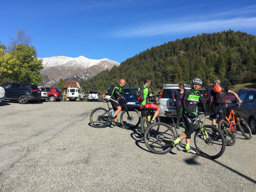
<path id="1" fill-rule="evenodd" d="M 194 125 L 193 125 L 193 118 L 195 117 L 195 112 L 197 108 L 198 102 L 202 104 L 202 108 L 205 112 L 205 116 L 209 115 L 206 109 L 206 105 L 203 101 L 203 98 L 201 96 L 201 93 L 198 91 L 198 89 L 202 85 L 202 80 L 196 78 L 192 80 L 192 89 L 188 89 L 184 92 L 183 98 L 182 98 L 182 117 L 185 121 L 185 125 L 187 126 L 187 129 L 185 132 L 183 132 L 173 143 L 172 145 L 179 150 L 183 150 L 183 148 L 179 145 L 179 142 L 186 138 L 186 152 L 189 153 L 197 153 L 195 150 L 190 148 L 190 140 L 191 140 L 191 134 L 194 132 Z"/>

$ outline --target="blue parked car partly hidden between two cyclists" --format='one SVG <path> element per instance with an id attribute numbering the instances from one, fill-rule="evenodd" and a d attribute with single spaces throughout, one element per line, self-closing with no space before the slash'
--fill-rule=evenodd
<path id="1" fill-rule="evenodd" d="M 138 102 L 135 98 L 134 98 L 134 92 L 137 91 L 139 88 L 134 88 L 134 87 L 130 87 L 130 88 L 124 88 L 124 97 L 126 99 L 126 101 L 128 102 L 126 104 L 127 108 L 140 108 L 140 102 Z M 118 100 L 119 104 L 123 104 L 124 101 L 120 98 Z"/>

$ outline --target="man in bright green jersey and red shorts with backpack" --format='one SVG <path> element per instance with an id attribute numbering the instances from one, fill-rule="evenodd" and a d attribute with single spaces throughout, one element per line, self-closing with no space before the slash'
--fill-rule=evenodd
<path id="1" fill-rule="evenodd" d="M 144 96 L 144 100 L 140 103 L 140 111 L 141 111 L 141 116 L 144 117 L 146 115 L 146 110 L 149 111 L 156 111 L 154 113 L 154 116 L 152 117 L 152 119 L 150 120 L 150 124 L 156 123 L 156 117 L 158 116 L 158 114 L 160 113 L 160 107 L 158 107 L 158 105 L 155 104 L 151 104 L 150 103 L 150 99 L 155 102 L 156 104 L 158 104 L 158 101 L 156 100 L 156 96 L 154 96 L 153 92 L 151 91 L 151 89 L 148 87 L 151 83 L 151 79 L 146 77 L 144 79 L 144 85 L 141 86 L 138 91 L 143 88 L 143 96 Z"/>

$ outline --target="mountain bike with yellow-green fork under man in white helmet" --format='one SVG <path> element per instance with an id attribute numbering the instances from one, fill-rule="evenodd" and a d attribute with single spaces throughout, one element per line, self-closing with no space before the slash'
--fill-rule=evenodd
<path id="1" fill-rule="evenodd" d="M 204 115 L 204 113 L 198 112 L 195 114 L 196 118 L 193 119 L 194 125 L 198 123 L 194 135 L 196 149 L 205 158 L 219 158 L 226 148 L 225 138 L 216 127 L 205 125 L 204 122 L 200 120 L 202 115 Z M 144 134 L 147 148 L 156 154 L 166 154 L 170 152 L 173 148 L 172 142 L 176 140 L 178 135 L 173 130 L 173 128 L 176 129 L 176 125 L 177 124 L 173 124 L 171 126 L 162 122 L 150 125 Z"/>

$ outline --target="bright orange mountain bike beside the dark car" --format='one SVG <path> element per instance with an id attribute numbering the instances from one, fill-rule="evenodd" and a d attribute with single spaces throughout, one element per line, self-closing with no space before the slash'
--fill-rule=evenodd
<path id="1" fill-rule="evenodd" d="M 237 106 L 239 106 L 238 103 L 228 108 L 228 117 L 226 117 L 225 120 L 220 120 L 220 122 L 218 123 L 218 128 L 226 138 L 226 144 L 229 146 L 233 146 L 236 143 L 236 134 L 238 133 L 236 125 L 246 139 L 252 138 L 252 131 L 247 122 L 232 109 Z M 220 116 L 222 110 L 219 110 L 218 113 Z"/>

